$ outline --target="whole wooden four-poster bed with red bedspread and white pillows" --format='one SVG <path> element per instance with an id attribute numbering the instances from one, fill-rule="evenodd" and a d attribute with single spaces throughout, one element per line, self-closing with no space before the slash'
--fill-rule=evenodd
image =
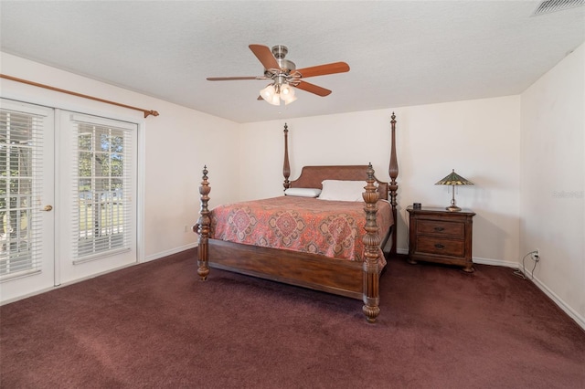
<path id="1" fill-rule="evenodd" d="M 390 124 L 390 183 L 376 178 L 371 163 L 304 166 L 298 179 L 289 181 L 286 124 L 285 195 L 209 210 L 211 189 L 205 167 L 200 214 L 193 226 L 199 236 L 199 277 L 207 279 L 211 266 L 363 300 L 367 321 L 375 322 L 379 275 L 386 265 L 381 248 L 389 240 L 389 255 L 396 253 L 393 224 L 399 170 L 394 114 Z"/>

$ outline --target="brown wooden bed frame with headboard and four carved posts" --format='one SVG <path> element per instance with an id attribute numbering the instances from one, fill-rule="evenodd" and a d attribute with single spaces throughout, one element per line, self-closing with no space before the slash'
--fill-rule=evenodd
<path id="1" fill-rule="evenodd" d="M 209 266 L 240 274 L 271 279 L 304 288 L 321 290 L 363 300 L 363 312 L 368 322 L 375 322 L 379 314 L 379 250 L 382 240 L 378 235 L 376 214 L 378 198 L 388 199 L 392 206 L 394 224 L 397 222 L 396 196 L 399 169 L 396 157 L 396 116 L 392 113 L 391 150 L 388 173 L 390 183 L 378 181 L 371 163 L 365 165 L 305 166 L 299 178 L 290 182 L 288 157 L 288 128 L 284 125 L 284 188 L 321 188 L 324 179 L 360 181 L 367 176 L 366 192 L 363 194 L 366 206 L 366 235 L 363 237 L 365 253 L 363 262 L 327 258 L 311 253 L 300 253 L 270 247 L 254 247 L 239 243 L 225 242 L 209 237 L 211 218 L 208 209 L 211 188 L 207 181 L 207 167 L 203 169 L 199 194 L 201 208 L 193 231 L 198 234 L 197 274 L 206 280 Z M 378 183 L 376 186 L 374 183 Z M 389 192 L 389 198 L 388 198 Z M 389 256 L 396 254 L 396 228 L 391 228 L 392 247 Z M 384 246 L 382 246 L 384 247 Z"/>

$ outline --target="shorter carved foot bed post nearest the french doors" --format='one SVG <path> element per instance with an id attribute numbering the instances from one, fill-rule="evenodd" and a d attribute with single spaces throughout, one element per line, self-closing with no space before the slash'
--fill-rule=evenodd
<path id="1" fill-rule="evenodd" d="M 197 274 L 202 281 L 207 279 L 209 274 L 209 228 L 211 226 L 211 218 L 209 217 L 209 192 L 211 188 L 207 182 L 207 165 L 203 167 L 203 181 L 199 186 L 199 195 L 201 195 L 201 210 L 199 211 L 199 219 L 197 224 L 193 226 L 193 230 L 199 235 L 197 245 Z"/>

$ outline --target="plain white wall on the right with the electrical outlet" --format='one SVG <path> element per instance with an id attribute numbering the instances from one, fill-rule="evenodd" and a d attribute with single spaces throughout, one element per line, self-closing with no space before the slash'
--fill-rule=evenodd
<path id="1" fill-rule="evenodd" d="M 521 101 L 520 250 L 539 249 L 537 285 L 585 328 L 585 45 Z"/>

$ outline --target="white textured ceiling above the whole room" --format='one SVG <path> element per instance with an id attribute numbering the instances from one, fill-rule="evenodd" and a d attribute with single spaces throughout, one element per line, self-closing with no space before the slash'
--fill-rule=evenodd
<path id="1" fill-rule="evenodd" d="M 0 43 L 231 121 L 267 121 L 518 94 L 585 42 L 584 6 L 532 16 L 537 5 L 2 0 Z M 346 61 L 351 70 L 307 79 L 333 93 L 298 90 L 286 107 L 256 100 L 265 80 L 206 80 L 261 76 L 250 44 L 287 46 L 297 68 Z"/>

